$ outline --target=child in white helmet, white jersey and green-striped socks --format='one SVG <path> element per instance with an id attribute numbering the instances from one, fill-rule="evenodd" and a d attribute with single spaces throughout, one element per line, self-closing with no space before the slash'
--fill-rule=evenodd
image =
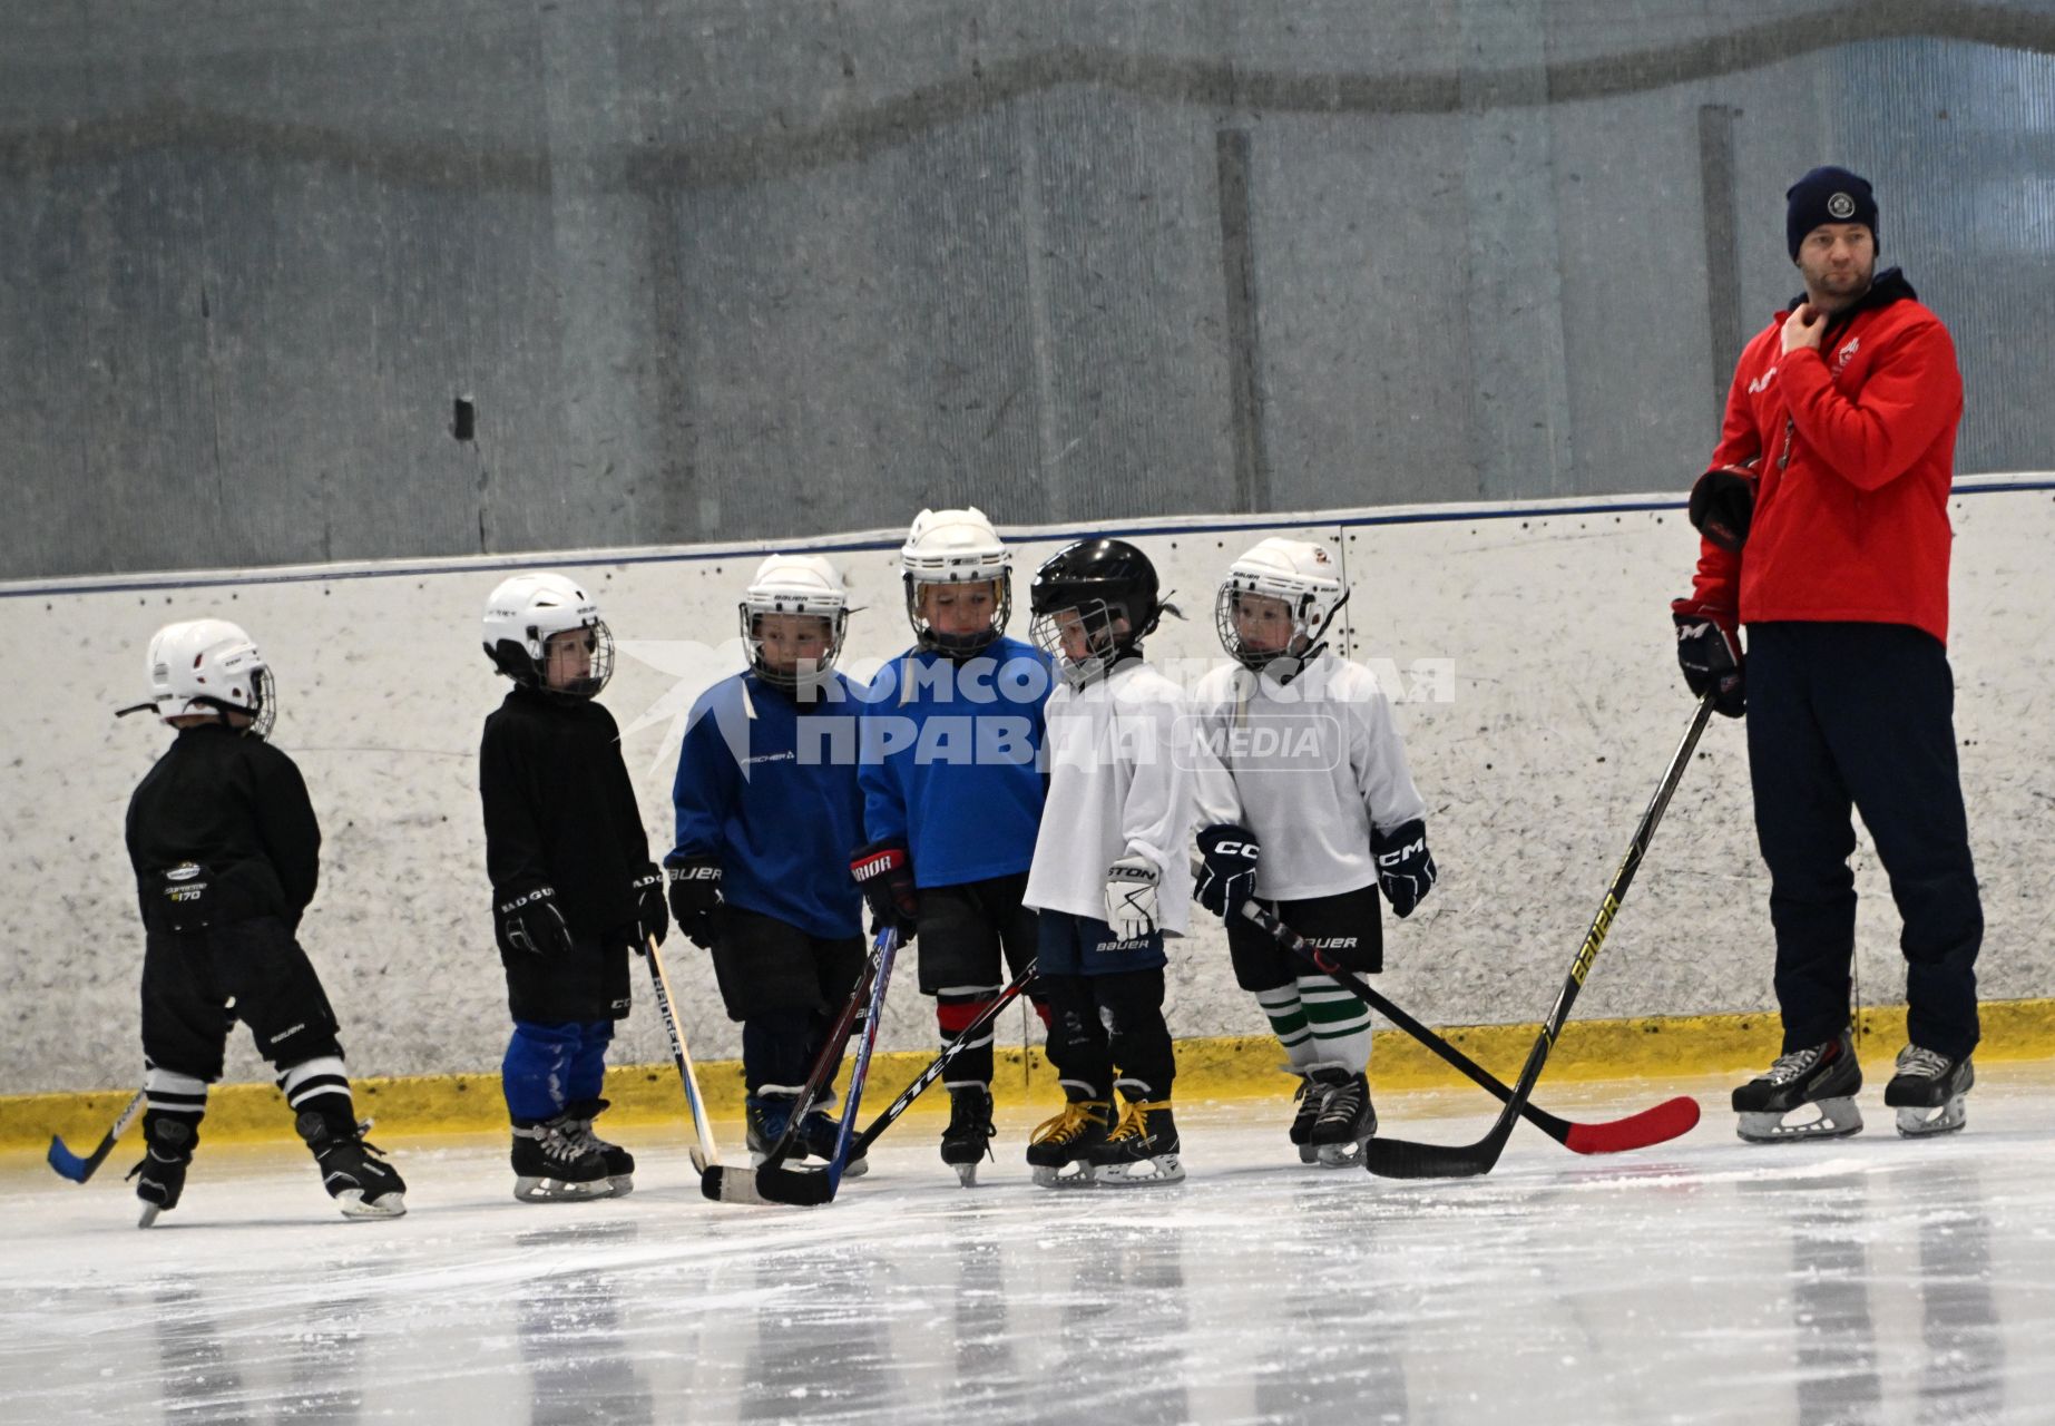
<path id="1" fill-rule="evenodd" d="M 1426 803 L 1375 676 L 1328 647 L 1348 598 L 1319 545 L 1268 538 L 1215 602 L 1223 647 L 1192 695 L 1200 904 L 1227 921 L 1235 980 L 1301 1077 L 1291 1140 L 1305 1163 L 1356 1163 L 1377 1132 L 1365 1071 L 1371 1011 L 1239 914 L 1260 898 L 1356 972 L 1383 970 L 1377 888 L 1399 916 L 1434 886 Z"/>

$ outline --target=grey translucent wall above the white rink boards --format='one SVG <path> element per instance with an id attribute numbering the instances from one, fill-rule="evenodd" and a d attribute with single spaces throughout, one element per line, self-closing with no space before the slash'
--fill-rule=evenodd
<path id="1" fill-rule="evenodd" d="M 1954 329 L 1960 468 L 2047 452 L 2045 4 L 0 0 L 0 577 L 1681 487 L 1829 158 Z"/>

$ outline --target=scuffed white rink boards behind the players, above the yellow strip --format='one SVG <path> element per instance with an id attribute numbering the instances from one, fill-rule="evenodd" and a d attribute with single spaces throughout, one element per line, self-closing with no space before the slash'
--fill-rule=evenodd
<path id="1" fill-rule="evenodd" d="M 2055 995 L 2055 481 L 1965 489 L 1952 501 L 1956 727 L 1985 888 L 1989 997 Z M 1118 528 L 1118 526 L 1116 526 Z M 1434 1023 L 1533 1021 L 1619 861 L 1691 703 L 1667 600 L 1695 540 L 1667 497 L 1305 516 L 1342 551 L 1348 647 L 1395 682 L 1443 881 L 1389 931 L 1383 990 Z M 1219 660 L 1210 600 L 1225 563 L 1268 526 L 1141 526 L 1192 614 L 1151 653 L 1184 678 Z M 1067 532 L 1015 530 L 1025 569 Z M 847 666 L 906 641 L 890 547 L 838 549 L 859 604 Z M 734 600 L 758 553 L 738 547 L 559 557 L 604 600 L 625 658 L 604 695 L 656 847 L 668 847 L 678 717 L 740 668 Z M 331 565 L 127 581 L 0 584 L 16 651 L 0 758 L 0 1075 L 10 1091 L 134 1083 L 140 1050 L 136 896 L 121 818 L 166 736 L 113 709 L 144 695 L 142 649 L 164 621 L 218 612 L 269 653 L 282 715 L 327 832 L 304 941 L 360 1073 L 491 1068 L 503 990 L 483 875 L 475 748 L 503 684 L 477 618 L 506 561 Z M 1017 618 L 1017 631 L 1025 614 Z M 1866 1003 L 1903 992 L 1897 923 L 1874 855 L 1858 853 Z M 1755 857 L 1743 729 L 1716 719 L 1621 910 L 1580 1015 L 1687 1015 L 1769 1005 L 1765 879 Z M 1260 1034 L 1210 918 L 1178 947 L 1180 1036 Z M 711 968 L 672 941 L 672 976 L 701 1056 L 738 1054 Z M 1009 1038 L 1017 1042 L 1021 1025 Z M 929 1044 L 912 976 L 894 982 L 886 1044 Z M 647 999 L 619 1058 L 660 1062 Z M 236 1036 L 228 1075 L 263 1066 Z"/>

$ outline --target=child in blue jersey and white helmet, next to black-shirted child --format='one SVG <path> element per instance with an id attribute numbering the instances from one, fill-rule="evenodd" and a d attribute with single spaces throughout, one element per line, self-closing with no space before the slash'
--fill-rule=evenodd
<path id="1" fill-rule="evenodd" d="M 863 896 L 849 879 L 863 793 L 855 690 L 834 670 L 849 623 L 840 573 L 820 555 L 771 555 L 740 612 L 750 668 L 693 705 L 672 787 L 678 845 L 664 865 L 678 925 L 713 951 L 721 1003 L 742 1021 L 760 1165 L 863 974 Z M 832 1157 L 838 1128 L 824 1108 L 810 1112 L 804 1153 Z M 845 1173 L 863 1169 L 853 1159 Z"/>

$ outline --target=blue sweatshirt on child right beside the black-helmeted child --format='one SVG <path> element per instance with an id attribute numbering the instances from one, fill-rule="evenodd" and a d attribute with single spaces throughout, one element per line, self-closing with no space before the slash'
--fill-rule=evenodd
<path id="1" fill-rule="evenodd" d="M 972 660 L 912 649 L 863 705 L 863 830 L 902 838 L 914 886 L 1025 871 L 1042 824 L 1042 707 L 1054 666 L 1019 639 Z"/>

